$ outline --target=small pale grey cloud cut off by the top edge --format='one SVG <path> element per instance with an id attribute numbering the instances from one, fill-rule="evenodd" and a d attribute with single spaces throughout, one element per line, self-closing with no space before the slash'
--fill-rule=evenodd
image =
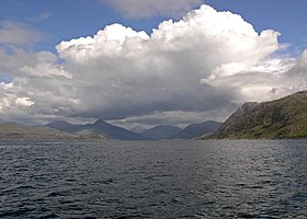
<path id="1" fill-rule="evenodd" d="M 109 3 L 126 18 L 141 19 L 156 15 L 181 16 L 202 0 L 99 0 Z"/>

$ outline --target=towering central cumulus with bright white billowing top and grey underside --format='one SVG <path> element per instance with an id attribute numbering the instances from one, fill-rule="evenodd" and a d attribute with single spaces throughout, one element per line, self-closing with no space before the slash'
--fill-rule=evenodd
<path id="1" fill-rule="evenodd" d="M 87 95 L 86 113 L 112 118 L 225 107 L 236 88 L 213 89 L 201 79 L 227 65 L 263 61 L 278 49 L 277 36 L 259 35 L 241 16 L 203 5 L 179 22 L 162 22 L 150 36 L 113 24 L 93 37 L 62 42 L 57 50 L 73 79 L 83 82 L 78 95 Z"/>

